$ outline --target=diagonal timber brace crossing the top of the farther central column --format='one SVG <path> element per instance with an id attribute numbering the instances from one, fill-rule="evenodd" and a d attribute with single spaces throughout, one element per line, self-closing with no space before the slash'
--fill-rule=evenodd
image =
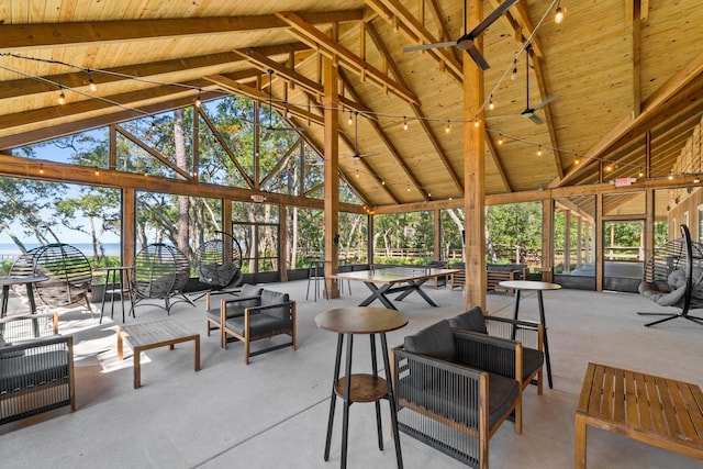
<path id="1" fill-rule="evenodd" d="M 332 41 L 325 33 L 316 29 L 311 23 L 306 22 L 299 14 L 288 11 L 277 13 L 278 18 L 286 21 L 292 26 L 291 33 L 300 38 L 305 44 L 313 48 L 319 48 L 322 54 L 339 60 L 341 65 L 350 71 L 355 72 L 359 77 L 368 78 L 371 82 L 379 86 L 381 89 L 388 89 L 393 94 L 408 101 L 420 104 L 417 97 L 408 90 L 405 87 L 400 86 L 397 81 L 390 79 L 378 68 L 367 64 L 361 57 L 354 54 L 348 48 Z"/>

